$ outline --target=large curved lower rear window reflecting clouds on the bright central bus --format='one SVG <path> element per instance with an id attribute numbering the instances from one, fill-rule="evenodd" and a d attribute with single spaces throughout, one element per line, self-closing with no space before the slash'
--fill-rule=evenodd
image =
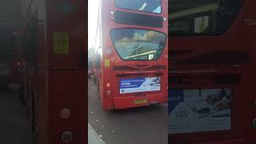
<path id="1" fill-rule="evenodd" d="M 154 61 L 166 46 L 166 34 L 153 30 L 115 29 L 110 32 L 115 50 L 123 60 Z"/>

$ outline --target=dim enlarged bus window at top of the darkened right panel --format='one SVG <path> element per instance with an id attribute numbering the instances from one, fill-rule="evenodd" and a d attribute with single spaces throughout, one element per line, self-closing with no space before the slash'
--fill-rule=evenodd
<path id="1" fill-rule="evenodd" d="M 223 34 L 237 18 L 242 2 L 243 0 L 170 0 L 170 35 Z"/>

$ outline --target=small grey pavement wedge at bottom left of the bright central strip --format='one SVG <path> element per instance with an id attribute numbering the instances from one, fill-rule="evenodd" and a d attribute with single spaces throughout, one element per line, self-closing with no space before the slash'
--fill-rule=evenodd
<path id="1" fill-rule="evenodd" d="M 90 123 L 88 123 L 88 144 L 106 144 L 94 128 L 90 126 Z"/>

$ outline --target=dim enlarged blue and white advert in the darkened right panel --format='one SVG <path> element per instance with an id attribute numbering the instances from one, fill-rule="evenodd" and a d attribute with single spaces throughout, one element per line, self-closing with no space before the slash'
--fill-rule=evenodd
<path id="1" fill-rule="evenodd" d="M 182 134 L 231 128 L 231 90 L 170 90 L 168 133 Z"/>

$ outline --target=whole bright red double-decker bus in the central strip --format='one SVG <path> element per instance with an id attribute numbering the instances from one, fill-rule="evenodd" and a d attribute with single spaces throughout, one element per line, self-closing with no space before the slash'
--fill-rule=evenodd
<path id="1" fill-rule="evenodd" d="M 167 102 L 167 0 L 100 5 L 95 66 L 102 110 Z"/>

